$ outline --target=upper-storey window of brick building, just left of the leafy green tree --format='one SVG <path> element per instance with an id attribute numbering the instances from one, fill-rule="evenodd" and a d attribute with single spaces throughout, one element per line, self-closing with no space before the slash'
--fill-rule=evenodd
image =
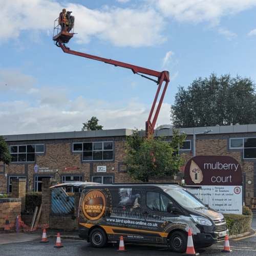
<path id="1" fill-rule="evenodd" d="M 113 142 L 73 143 L 73 152 L 82 152 L 83 161 L 113 160 Z"/>

